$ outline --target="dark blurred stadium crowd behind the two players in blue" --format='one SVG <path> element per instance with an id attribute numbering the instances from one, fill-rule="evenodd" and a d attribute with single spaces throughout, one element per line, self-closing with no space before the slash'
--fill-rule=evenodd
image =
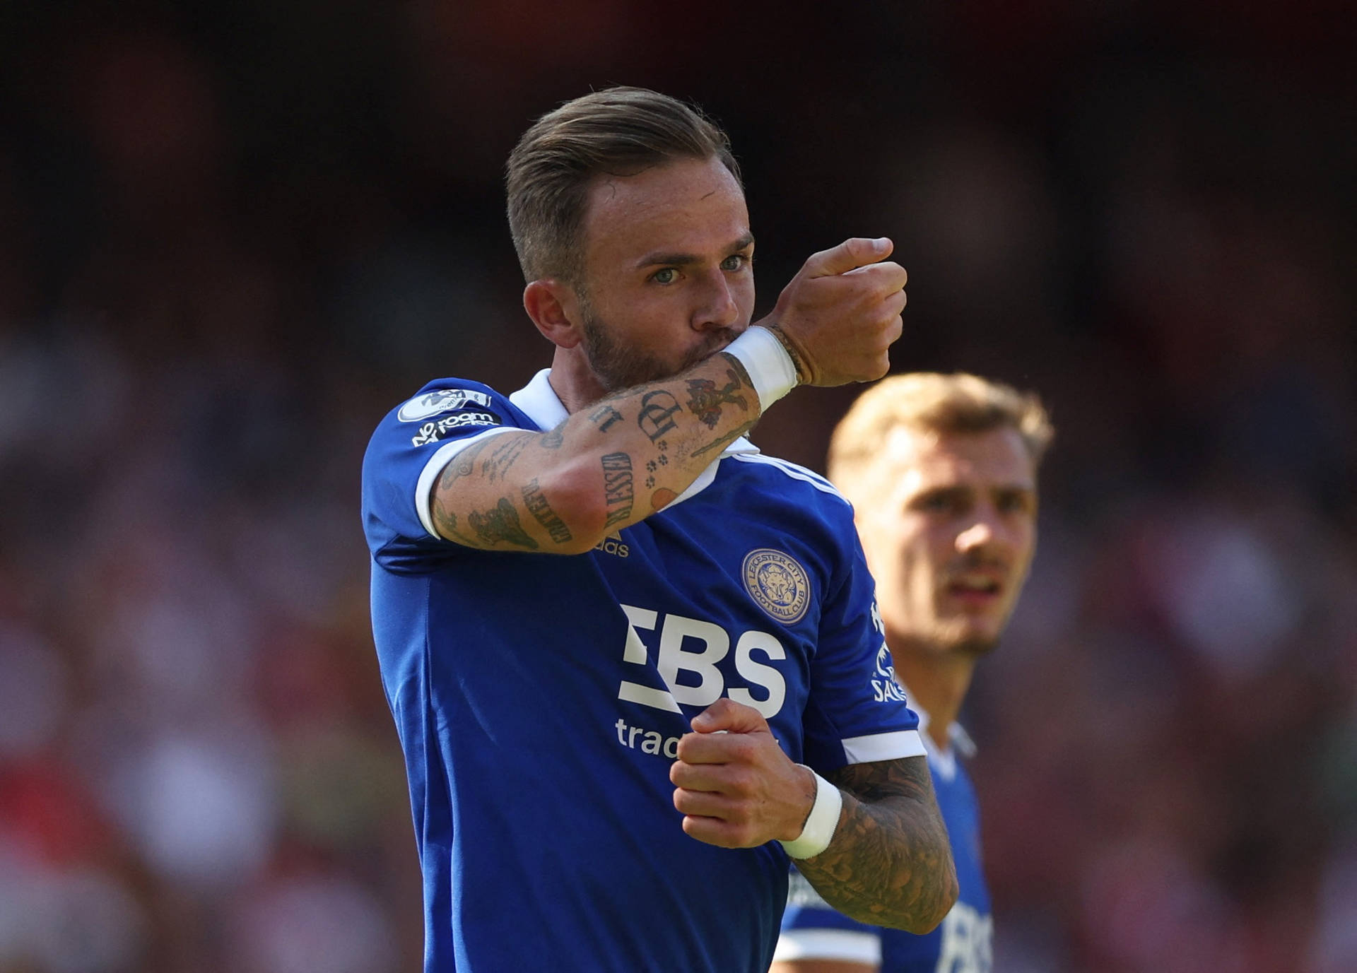
<path id="1" fill-rule="evenodd" d="M 360 460 L 427 379 L 550 362 L 501 168 L 611 83 L 731 133 L 760 309 L 889 235 L 894 368 L 1052 407 L 1034 577 L 963 714 L 996 970 L 1357 970 L 1352 27 L 1341 0 L 3 4 L 0 973 L 418 969 Z M 822 470 L 852 395 L 753 438 Z"/>

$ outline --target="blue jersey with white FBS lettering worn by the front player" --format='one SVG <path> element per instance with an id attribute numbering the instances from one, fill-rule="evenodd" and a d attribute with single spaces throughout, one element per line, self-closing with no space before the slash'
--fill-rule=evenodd
<path id="1" fill-rule="evenodd" d="M 669 765 L 721 696 L 759 710 L 821 774 L 924 752 L 852 512 L 822 478 L 740 440 L 584 555 L 436 536 L 429 494 L 449 459 L 565 419 L 547 372 L 510 396 L 440 380 L 383 419 L 364 459 L 425 970 L 763 973 L 788 859 L 776 841 L 688 837 Z"/>

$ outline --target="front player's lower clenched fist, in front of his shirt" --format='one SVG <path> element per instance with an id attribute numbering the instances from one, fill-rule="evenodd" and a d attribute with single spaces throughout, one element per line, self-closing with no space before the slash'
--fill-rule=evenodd
<path id="1" fill-rule="evenodd" d="M 721 848 L 792 841 L 816 802 L 816 775 L 791 761 L 750 706 L 718 699 L 692 719 L 669 768 L 687 835 Z"/>

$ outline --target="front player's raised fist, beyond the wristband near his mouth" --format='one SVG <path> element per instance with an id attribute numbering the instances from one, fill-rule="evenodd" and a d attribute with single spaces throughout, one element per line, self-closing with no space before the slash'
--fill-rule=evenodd
<path id="1" fill-rule="evenodd" d="M 893 248 L 886 237 L 852 237 L 811 254 L 756 322 L 782 341 L 802 384 L 873 381 L 890 369 L 909 277 L 886 259 Z"/>

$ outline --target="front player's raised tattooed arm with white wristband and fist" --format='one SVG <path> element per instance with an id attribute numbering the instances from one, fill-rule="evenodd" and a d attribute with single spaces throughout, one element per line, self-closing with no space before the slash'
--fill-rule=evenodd
<path id="1" fill-rule="evenodd" d="M 552 430 L 470 444 L 434 480 L 434 528 L 467 547 L 582 554 L 662 510 L 795 384 L 886 373 L 906 280 L 889 254 L 889 240 L 860 237 L 814 254 L 772 313 L 726 350 Z"/>

